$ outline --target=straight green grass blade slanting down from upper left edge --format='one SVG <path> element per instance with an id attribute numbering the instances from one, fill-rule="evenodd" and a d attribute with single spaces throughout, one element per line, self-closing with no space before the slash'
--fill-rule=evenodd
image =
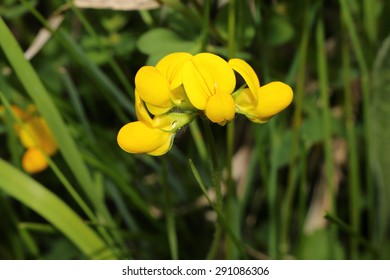
<path id="1" fill-rule="evenodd" d="M 80 186 L 91 202 L 95 203 L 96 197 L 93 182 L 75 141 L 70 136 L 50 95 L 31 64 L 24 58 L 22 50 L 2 18 L 0 18 L 0 34 L 2 35 L 0 47 L 8 58 L 19 81 L 34 101 L 41 115 L 46 119 L 65 161 L 68 163 Z"/>

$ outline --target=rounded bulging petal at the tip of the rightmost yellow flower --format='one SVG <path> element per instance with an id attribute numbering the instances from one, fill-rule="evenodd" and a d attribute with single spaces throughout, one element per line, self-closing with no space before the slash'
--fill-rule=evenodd
<path id="1" fill-rule="evenodd" d="M 293 98 L 291 87 L 282 82 L 266 84 L 260 87 L 258 93 L 256 116 L 263 122 L 287 108 Z"/>

